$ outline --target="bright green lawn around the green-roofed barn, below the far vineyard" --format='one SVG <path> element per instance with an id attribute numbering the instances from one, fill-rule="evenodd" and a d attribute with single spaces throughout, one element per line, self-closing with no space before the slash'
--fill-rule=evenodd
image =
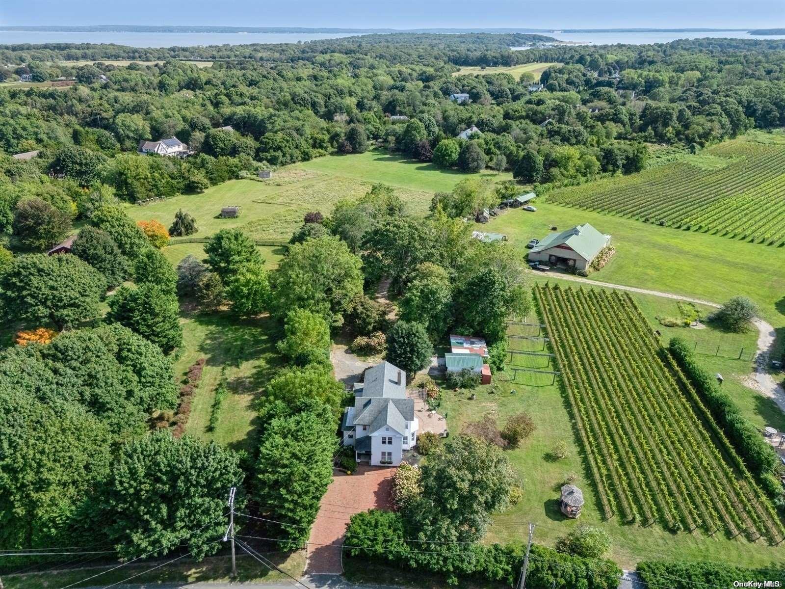
<path id="1" fill-rule="evenodd" d="M 542 239 L 550 226 L 569 229 L 590 223 L 613 237 L 616 254 L 590 278 L 658 291 L 725 302 L 743 294 L 760 306 L 761 316 L 780 331 L 785 327 L 785 248 L 649 225 L 535 202 L 537 212 L 508 210 L 483 229 L 506 233 L 509 244 L 523 255 L 533 237 Z M 479 229 L 479 227 L 478 227 Z"/>

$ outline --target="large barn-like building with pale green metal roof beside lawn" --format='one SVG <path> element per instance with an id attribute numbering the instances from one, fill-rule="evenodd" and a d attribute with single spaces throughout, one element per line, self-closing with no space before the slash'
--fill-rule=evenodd
<path id="1" fill-rule="evenodd" d="M 588 223 L 584 223 L 543 237 L 529 251 L 529 262 L 564 264 L 569 268 L 586 270 L 608 243 L 611 243 L 611 236 L 603 235 Z"/>

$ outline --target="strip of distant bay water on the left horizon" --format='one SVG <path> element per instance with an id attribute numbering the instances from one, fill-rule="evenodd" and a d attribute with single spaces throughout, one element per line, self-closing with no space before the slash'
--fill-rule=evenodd
<path id="1" fill-rule="evenodd" d="M 190 47 L 197 45 L 250 45 L 296 43 L 340 38 L 356 33 L 129 33 L 104 31 L 3 31 L 0 45 L 18 43 L 114 43 L 130 47 Z"/>

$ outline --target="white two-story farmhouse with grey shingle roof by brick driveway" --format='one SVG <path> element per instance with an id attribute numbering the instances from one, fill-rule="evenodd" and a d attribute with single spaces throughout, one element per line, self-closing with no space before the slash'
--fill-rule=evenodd
<path id="1" fill-rule="evenodd" d="M 354 385 L 354 407 L 344 410 L 343 444 L 354 446 L 357 462 L 398 466 L 403 451 L 417 444 L 414 399 L 406 397 L 406 373 L 389 362 L 365 371 Z"/>

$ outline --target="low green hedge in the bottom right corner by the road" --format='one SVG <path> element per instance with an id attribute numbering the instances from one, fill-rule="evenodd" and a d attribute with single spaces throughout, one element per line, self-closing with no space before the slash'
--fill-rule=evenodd
<path id="1" fill-rule="evenodd" d="M 734 581 L 779 581 L 785 587 L 785 568 L 742 569 L 738 566 L 707 562 L 644 561 L 637 565 L 641 580 L 650 587 L 696 589 L 696 587 L 734 587 Z M 776 587 L 776 585 L 769 585 Z"/>

